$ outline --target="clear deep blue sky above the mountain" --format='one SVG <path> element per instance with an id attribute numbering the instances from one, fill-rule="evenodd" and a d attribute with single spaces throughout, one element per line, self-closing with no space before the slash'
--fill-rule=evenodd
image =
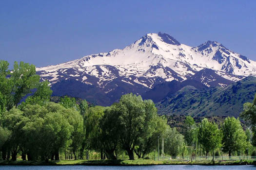
<path id="1" fill-rule="evenodd" d="M 0 0 L 0 59 L 11 65 L 59 64 L 159 31 L 256 60 L 256 0 Z"/>

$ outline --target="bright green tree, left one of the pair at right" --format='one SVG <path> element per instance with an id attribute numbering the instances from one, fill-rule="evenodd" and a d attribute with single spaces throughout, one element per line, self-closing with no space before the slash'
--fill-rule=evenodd
<path id="1" fill-rule="evenodd" d="M 198 129 L 198 141 L 203 146 L 206 151 L 206 156 L 212 150 L 213 153 L 215 149 L 221 147 L 222 134 L 218 129 L 217 124 L 211 123 L 208 119 L 203 119 L 199 124 Z M 214 160 L 214 154 L 213 154 Z"/>

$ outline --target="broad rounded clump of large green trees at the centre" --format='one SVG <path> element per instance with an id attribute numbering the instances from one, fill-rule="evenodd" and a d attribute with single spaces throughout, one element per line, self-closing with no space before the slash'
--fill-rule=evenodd
<path id="1" fill-rule="evenodd" d="M 144 157 L 155 149 L 157 137 L 163 135 L 166 127 L 166 119 L 158 117 L 154 102 L 133 94 L 123 95 L 104 112 L 103 146 L 111 159 L 116 159 L 118 144 L 130 159 L 134 159 L 134 151 L 138 157 Z"/>

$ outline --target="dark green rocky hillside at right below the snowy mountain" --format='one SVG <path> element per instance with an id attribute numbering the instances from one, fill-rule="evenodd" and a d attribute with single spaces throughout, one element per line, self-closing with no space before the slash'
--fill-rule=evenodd
<path id="1" fill-rule="evenodd" d="M 248 76 L 226 87 L 196 89 L 185 86 L 156 104 L 160 115 L 235 116 L 256 94 L 256 77 Z"/>

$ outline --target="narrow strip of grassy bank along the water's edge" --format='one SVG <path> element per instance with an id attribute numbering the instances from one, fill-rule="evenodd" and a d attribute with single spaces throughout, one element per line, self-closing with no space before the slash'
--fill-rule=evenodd
<path id="1" fill-rule="evenodd" d="M 60 160 L 60 161 L 0 161 L 0 165 L 256 165 L 256 161 L 154 161 L 154 160 Z"/>

